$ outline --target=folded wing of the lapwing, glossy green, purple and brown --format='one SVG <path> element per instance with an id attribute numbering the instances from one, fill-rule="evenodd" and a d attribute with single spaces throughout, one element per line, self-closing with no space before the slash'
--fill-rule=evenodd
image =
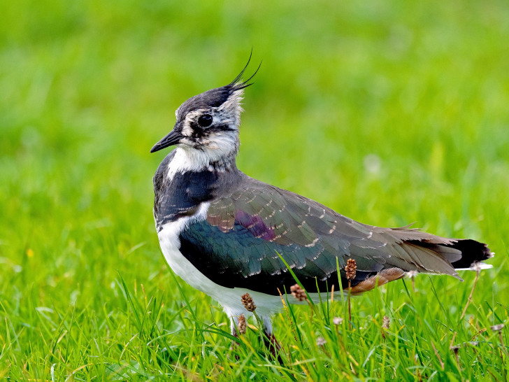
<path id="1" fill-rule="evenodd" d="M 452 239 L 410 227 L 364 225 L 248 177 L 234 192 L 210 201 L 206 220 L 194 222 L 180 239 L 182 253 L 192 251 L 189 260 L 214 281 L 243 286 L 252 278 L 257 290 L 270 292 L 292 282 L 278 254 L 312 289 L 316 280 L 337 283 L 336 259 L 340 269 L 347 258 L 356 260 L 359 283 L 391 267 L 454 276 L 450 260 L 458 257 L 457 250 L 445 247 Z M 340 278 L 344 283 L 343 271 Z"/>

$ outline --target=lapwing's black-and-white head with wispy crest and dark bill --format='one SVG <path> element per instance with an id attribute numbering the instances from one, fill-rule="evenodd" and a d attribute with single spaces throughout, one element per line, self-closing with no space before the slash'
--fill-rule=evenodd
<path id="1" fill-rule="evenodd" d="M 157 142 L 150 153 L 177 145 L 189 154 L 200 152 L 201 156 L 208 156 L 210 162 L 235 157 L 243 92 L 256 74 L 241 80 L 245 68 L 228 85 L 198 94 L 180 105 L 175 112 L 177 121 L 173 130 Z"/>

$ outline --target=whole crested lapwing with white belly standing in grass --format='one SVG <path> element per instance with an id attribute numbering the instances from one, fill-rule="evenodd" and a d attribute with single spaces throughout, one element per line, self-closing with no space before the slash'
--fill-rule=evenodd
<path id="1" fill-rule="evenodd" d="M 461 280 L 459 269 L 491 267 L 482 263 L 493 256 L 485 243 L 366 225 L 239 170 L 243 94 L 260 67 L 243 80 L 248 64 L 228 85 L 180 105 L 173 129 L 150 150 L 176 146 L 153 178 L 162 253 L 175 274 L 219 302 L 232 335 L 239 316 L 252 315 L 242 298 L 249 294 L 269 343 L 279 346 L 271 317 L 295 278 L 318 301 L 331 288 L 357 295 L 408 274 Z M 349 260 L 357 271 L 347 280 Z"/>

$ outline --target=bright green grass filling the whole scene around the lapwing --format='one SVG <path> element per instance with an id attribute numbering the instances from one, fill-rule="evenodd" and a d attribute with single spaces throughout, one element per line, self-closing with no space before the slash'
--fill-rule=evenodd
<path id="1" fill-rule="evenodd" d="M 506 1 L 2 8 L 2 379 L 507 379 Z M 475 272 L 419 276 L 354 299 L 351 330 L 338 294 L 275 316 L 282 365 L 255 323 L 230 350 L 220 306 L 159 251 L 148 151 L 252 46 L 239 167 L 362 222 L 489 243 L 464 317 Z"/>

